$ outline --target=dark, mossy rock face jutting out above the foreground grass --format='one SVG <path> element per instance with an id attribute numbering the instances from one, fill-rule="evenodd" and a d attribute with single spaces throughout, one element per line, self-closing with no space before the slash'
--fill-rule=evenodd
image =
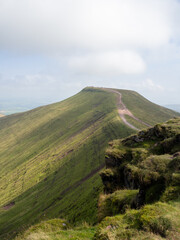
<path id="1" fill-rule="evenodd" d="M 131 195 L 133 199 L 124 202 L 135 209 L 180 196 L 180 118 L 157 124 L 109 145 L 106 169 L 100 173 L 104 185 L 104 197 L 99 203 L 100 220 L 102 216 L 112 215 L 113 211 L 107 209 L 107 214 L 102 212 L 106 205 L 112 206 L 106 204 L 109 199 L 118 204 L 116 191 L 128 190 L 127 198 Z M 130 190 L 137 190 L 137 194 L 130 194 Z M 124 193 L 123 196 L 125 199 Z M 124 208 L 122 202 L 119 205 Z M 116 208 L 115 213 L 122 209 Z"/>

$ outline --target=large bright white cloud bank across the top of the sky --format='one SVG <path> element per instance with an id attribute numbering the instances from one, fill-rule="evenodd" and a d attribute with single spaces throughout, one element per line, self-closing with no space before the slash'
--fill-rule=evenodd
<path id="1" fill-rule="evenodd" d="M 175 0 L 0 0 L 0 47 L 152 48 L 171 37 Z"/>

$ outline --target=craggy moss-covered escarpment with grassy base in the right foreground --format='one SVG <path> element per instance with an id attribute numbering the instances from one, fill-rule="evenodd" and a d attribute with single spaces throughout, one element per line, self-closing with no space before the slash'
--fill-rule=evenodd
<path id="1" fill-rule="evenodd" d="M 180 118 L 111 142 L 100 175 L 96 239 L 179 239 Z"/>

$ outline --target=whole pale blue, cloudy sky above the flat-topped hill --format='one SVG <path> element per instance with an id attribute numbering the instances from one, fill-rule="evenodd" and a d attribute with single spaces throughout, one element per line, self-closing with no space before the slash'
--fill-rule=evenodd
<path id="1" fill-rule="evenodd" d="M 0 0 L 0 101 L 86 86 L 180 104 L 180 1 Z"/>

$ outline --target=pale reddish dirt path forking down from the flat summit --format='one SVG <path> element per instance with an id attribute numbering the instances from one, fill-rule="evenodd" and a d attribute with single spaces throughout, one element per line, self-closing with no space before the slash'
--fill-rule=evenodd
<path id="1" fill-rule="evenodd" d="M 122 121 L 124 122 L 124 124 L 126 124 L 127 126 L 129 126 L 130 128 L 139 131 L 140 129 L 135 127 L 134 125 L 132 125 L 131 123 L 129 123 L 126 118 L 125 115 L 128 115 L 129 117 L 133 118 L 134 120 L 136 120 L 137 122 L 144 124 L 147 127 L 151 127 L 151 125 L 143 122 L 142 120 L 140 120 L 139 118 L 135 117 L 128 109 L 127 107 L 124 105 L 124 103 L 122 102 L 122 94 L 116 90 L 110 89 L 110 88 L 103 88 L 103 90 L 109 91 L 109 92 L 113 92 L 118 94 L 118 103 L 117 103 L 117 107 L 118 107 L 118 113 L 120 118 L 122 119 Z"/>

